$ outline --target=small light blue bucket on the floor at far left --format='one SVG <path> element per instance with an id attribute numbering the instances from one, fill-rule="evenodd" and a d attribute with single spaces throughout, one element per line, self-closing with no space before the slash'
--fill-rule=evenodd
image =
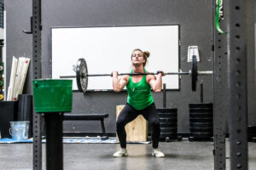
<path id="1" fill-rule="evenodd" d="M 25 140 L 28 138 L 28 121 L 10 122 L 9 133 L 14 140 Z"/>

